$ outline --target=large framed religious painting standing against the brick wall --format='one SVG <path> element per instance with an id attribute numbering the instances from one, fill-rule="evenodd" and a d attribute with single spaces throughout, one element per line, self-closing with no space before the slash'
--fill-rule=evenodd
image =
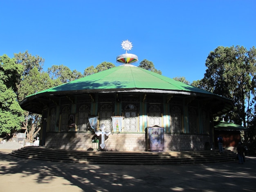
<path id="1" fill-rule="evenodd" d="M 148 127 L 148 150 L 164 151 L 164 127 Z"/>

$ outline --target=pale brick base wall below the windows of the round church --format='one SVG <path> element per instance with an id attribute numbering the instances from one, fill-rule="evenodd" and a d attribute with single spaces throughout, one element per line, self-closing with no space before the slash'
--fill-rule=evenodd
<path id="1" fill-rule="evenodd" d="M 49 132 L 46 136 L 47 148 L 65 150 L 90 150 L 94 148 L 92 140 L 99 139 L 92 132 Z M 165 151 L 208 150 L 209 135 L 164 134 Z M 147 151 L 145 133 L 113 133 L 105 137 L 105 149 L 108 151 Z"/>

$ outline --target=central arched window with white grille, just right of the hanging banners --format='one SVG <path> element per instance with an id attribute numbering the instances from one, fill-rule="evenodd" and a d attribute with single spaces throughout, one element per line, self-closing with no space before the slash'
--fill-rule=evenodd
<path id="1" fill-rule="evenodd" d="M 138 131 L 137 107 L 128 104 L 124 107 L 124 132 Z"/>

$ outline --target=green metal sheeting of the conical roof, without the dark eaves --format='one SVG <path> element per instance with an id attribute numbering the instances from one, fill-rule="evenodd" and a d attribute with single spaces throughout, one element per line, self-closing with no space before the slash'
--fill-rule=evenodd
<path id="1" fill-rule="evenodd" d="M 125 92 L 126 90 L 136 92 L 141 89 L 143 89 L 143 92 L 212 94 L 172 78 L 126 64 L 46 89 L 34 95 L 43 93 L 58 94 L 58 92 Z"/>

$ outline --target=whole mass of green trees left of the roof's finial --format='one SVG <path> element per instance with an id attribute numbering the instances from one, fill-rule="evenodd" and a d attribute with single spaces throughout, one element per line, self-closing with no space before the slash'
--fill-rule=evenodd
<path id="1" fill-rule="evenodd" d="M 15 132 L 22 127 L 26 129 L 28 141 L 33 141 L 40 130 L 41 116 L 24 112 L 18 102 L 26 96 L 83 76 L 76 69 L 71 71 L 64 65 L 53 65 L 44 72 L 44 61 L 40 56 L 32 56 L 28 51 L 14 54 L 14 58 L 7 55 L 0 57 L 0 134 Z M 93 66 L 85 69 L 85 74 L 112 67 L 115 65 L 103 62 L 95 69 Z"/>

